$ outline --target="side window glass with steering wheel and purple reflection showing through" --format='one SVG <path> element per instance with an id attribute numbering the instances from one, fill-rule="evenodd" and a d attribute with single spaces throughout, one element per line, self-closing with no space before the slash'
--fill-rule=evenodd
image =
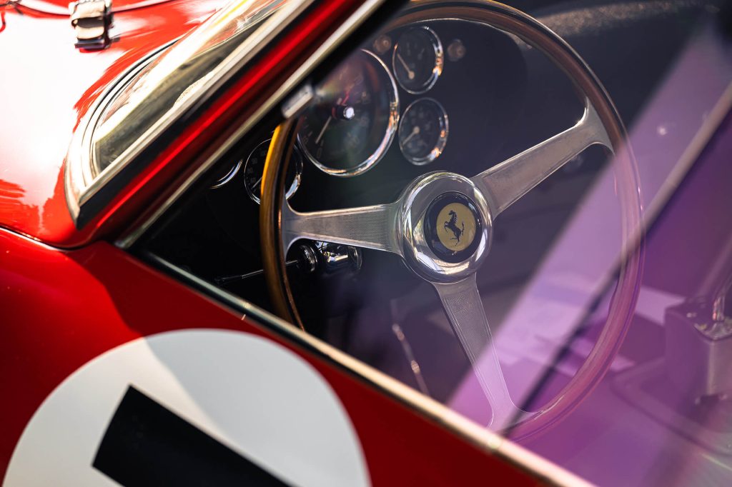
<path id="1" fill-rule="evenodd" d="M 732 16 L 512 3 L 412 2 L 146 249 L 591 483 L 732 485 Z"/>

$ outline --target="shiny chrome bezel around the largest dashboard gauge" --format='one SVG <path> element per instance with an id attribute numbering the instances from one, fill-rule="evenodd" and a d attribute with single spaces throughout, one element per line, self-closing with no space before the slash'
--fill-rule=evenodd
<path id="1" fill-rule="evenodd" d="M 374 151 L 373 154 L 368 156 L 367 159 L 365 159 L 359 165 L 351 167 L 351 169 L 334 169 L 333 167 L 324 165 L 322 162 L 318 161 L 318 159 L 313 156 L 313 154 L 310 154 L 310 151 L 307 150 L 305 144 L 302 143 L 302 140 L 300 140 L 300 134 L 297 134 L 297 146 L 299 146 L 302 154 L 305 154 L 307 159 L 312 162 L 313 165 L 315 165 L 315 167 L 317 167 L 319 170 L 323 171 L 326 174 L 334 175 L 340 178 L 351 178 L 353 176 L 363 174 L 367 170 L 370 170 L 371 168 L 376 166 L 376 164 L 381 161 L 381 159 L 386 154 L 386 151 L 388 151 L 389 147 L 392 145 L 399 124 L 399 94 L 397 92 L 397 82 L 392 76 L 392 73 L 389 71 L 389 68 L 386 67 L 386 64 L 384 64 L 384 61 L 381 61 L 381 58 L 379 58 L 378 56 L 376 56 L 376 54 L 367 49 L 361 49 L 361 52 L 367 54 L 368 56 L 371 56 L 371 58 L 376 61 L 378 66 L 384 69 L 386 78 L 389 80 L 389 83 L 391 85 L 391 96 L 389 97 L 389 124 L 386 127 L 384 137 L 381 139 L 381 143 L 379 143 L 376 151 Z"/>

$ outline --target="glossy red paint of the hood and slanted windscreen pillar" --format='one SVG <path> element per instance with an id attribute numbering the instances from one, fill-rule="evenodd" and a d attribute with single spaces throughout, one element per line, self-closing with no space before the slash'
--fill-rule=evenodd
<path id="1" fill-rule="evenodd" d="M 143 211 L 161 203 L 195 169 L 193 162 L 201 162 L 203 152 L 230 135 L 242 113 L 266 99 L 359 4 L 318 2 L 297 29 L 268 46 L 266 56 L 81 231 L 67 211 L 62 170 L 81 115 L 111 80 L 141 56 L 198 25 L 212 4 L 171 1 L 122 12 L 115 17 L 118 30 L 113 32 L 119 41 L 100 52 L 73 48 L 67 19 L 10 16 L 0 35 L 0 50 L 11 53 L 4 62 L 12 75 L 0 79 L 0 91 L 19 95 L 8 100 L 7 116 L 0 121 L 0 147 L 7 160 L 7 170 L 0 173 L 0 227 L 67 248 L 114 238 Z M 12 48 L 26 43 L 23 50 Z M 48 89 L 51 75 L 53 90 Z"/>

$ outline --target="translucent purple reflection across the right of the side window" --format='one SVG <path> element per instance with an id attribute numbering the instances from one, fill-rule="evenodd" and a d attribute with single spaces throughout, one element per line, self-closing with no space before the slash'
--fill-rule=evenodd
<path id="1" fill-rule="evenodd" d="M 722 100 L 728 110 L 731 80 L 728 49 L 706 29 L 684 49 L 632 127 L 644 218 L 651 229 L 635 321 L 610 374 L 589 399 L 554 429 L 526 442 L 591 482 L 732 483 L 732 407 L 724 401 L 701 404 L 689 390 L 674 386 L 663 358 L 666 310 L 698 294 L 732 229 L 732 124 L 722 126 L 684 179 L 698 155 L 695 148 L 703 147 L 697 141 L 706 140 L 705 123 L 716 126 L 715 105 Z M 610 168 L 578 206 L 504 320 L 493 323 L 516 404 L 542 404 L 556 395 L 604 325 L 606 290 L 620 248 L 614 184 Z M 577 333 L 583 323 L 589 325 Z M 561 353 L 567 343 L 571 347 Z M 689 356 L 667 360 L 688 360 L 693 366 Z M 485 424 L 480 410 L 485 400 L 479 394 L 477 382 L 468 376 L 450 406 Z M 720 445 L 722 441 L 730 445 Z"/>

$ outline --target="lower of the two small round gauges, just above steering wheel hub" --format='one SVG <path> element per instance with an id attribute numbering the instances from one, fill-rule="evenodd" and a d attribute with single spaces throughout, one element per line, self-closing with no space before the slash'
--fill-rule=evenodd
<path id="1" fill-rule="evenodd" d="M 399 148 L 409 162 L 425 165 L 437 159 L 447 143 L 447 113 L 436 100 L 421 98 L 404 110 Z"/>

